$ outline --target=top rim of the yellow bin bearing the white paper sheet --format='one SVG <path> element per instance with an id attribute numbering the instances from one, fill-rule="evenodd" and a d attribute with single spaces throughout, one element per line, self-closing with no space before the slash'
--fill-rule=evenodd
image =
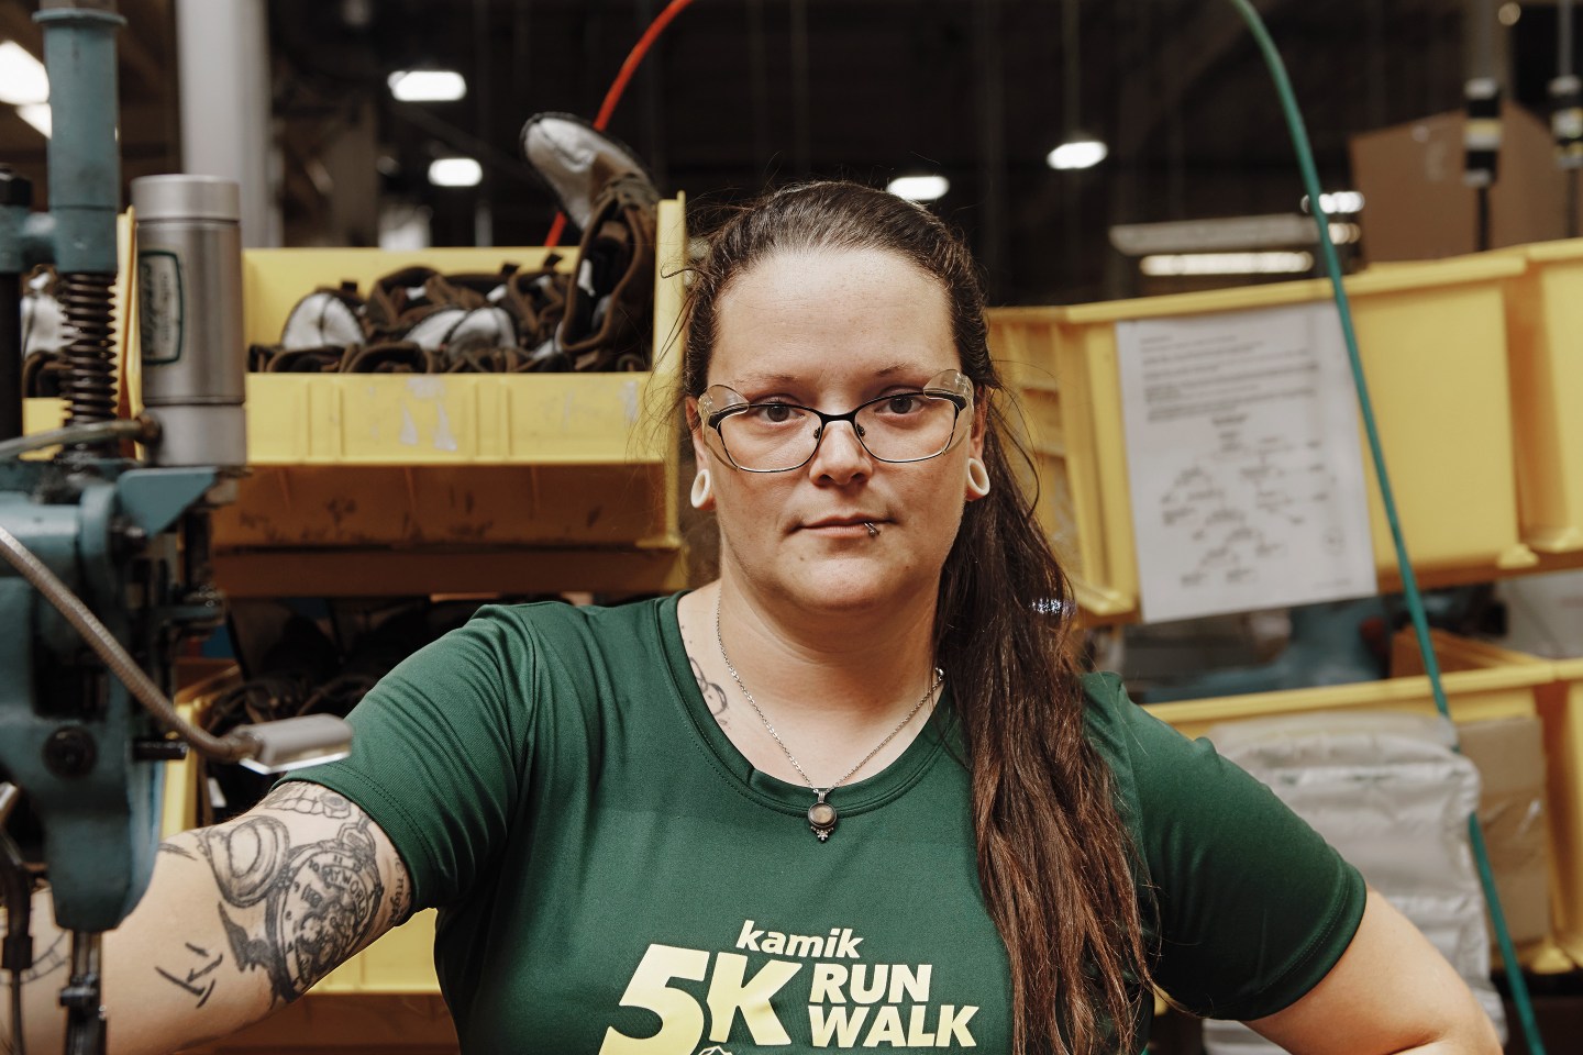
<path id="1" fill-rule="evenodd" d="M 1477 282 L 1496 282 L 1521 275 L 1528 269 L 1520 256 L 1488 256 L 1431 261 L 1391 267 L 1382 272 L 1349 275 L 1344 282 L 1352 296 L 1380 293 L 1407 293 Z M 1235 289 L 1209 289 L 1200 293 L 1171 293 L 1160 297 L 1137 297 L 1132 301 L 1105 301 L 1057 308 L 1057 321 L 1072 324 L 1116 323 L 1133 318 L 1159 318 L 1165 315 L 1206 315 L 1238 308 L 1274 307 L 1304 301 L 1327 301 L 1331 296 L 1328 278 L 1304 278 L 1301 282 L 1277 282 L 1263 286 L 1238 286 Z M 1048 310 L 1048 308 L 1046 308 Z M 1045 315 L 1043 318 L 1051 318 Z"/>

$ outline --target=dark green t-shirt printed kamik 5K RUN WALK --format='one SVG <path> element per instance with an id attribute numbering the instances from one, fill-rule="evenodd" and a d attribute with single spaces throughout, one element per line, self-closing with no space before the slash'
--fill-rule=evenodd
<path id="1" fill-rule="evenodd" d="M 1363 879 L 1118 679 L 1084 686 L 1157 898 L 1157 982 L 1200 1014 L 1287 1006 L 1346 949 Z M 369 694 L 350 759 L 301 777 L 359 804 L 440 908 L 465 1052 L 1005 1052 L 947 704 L 831 792 L 822 843 L 807 788 L 757 772 L 709 713 L 674 596 L 489 607 Z"/>

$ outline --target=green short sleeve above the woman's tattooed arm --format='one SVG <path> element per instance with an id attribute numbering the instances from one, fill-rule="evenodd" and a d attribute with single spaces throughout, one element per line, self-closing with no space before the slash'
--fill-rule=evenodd
<path id="1" fill-rule="evenodd" d="M 535 650 L 502 609 L 413 653 L 353 712 L 351 756 L 293 773 L 394 843 L 415 908 L 453 903 L 503 845 L 527 780 Z"/>

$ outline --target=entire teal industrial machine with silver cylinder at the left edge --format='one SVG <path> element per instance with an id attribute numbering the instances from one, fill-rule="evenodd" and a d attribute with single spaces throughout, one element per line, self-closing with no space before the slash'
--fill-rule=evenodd
<path id="1" fill-rule="evenodd" d="M 317 715 L 214 737 L 168 701 L 182 644 L 223 618 L 209 511 L 234 495 L 247 452 L 237 188 L 135 180 L 144 411 L 119 418 L 123 19 L 114 0 L 43 0 L 35 19 L 54 112 L 49 212 L 30 212 L 27 180 L 0 171 L 0 968 L 17 984 L 32 965 L 28 895 L 47 883 L 71 933 L 66 1052 L 87 1055 L 106 1042 L 100 938 L 154 870 L 161 762 L 193 748 L 275 772 L 345 754 L 350 728 Z M 22 438 L 21 277 L 38 263 L 59 272 L 68 408 L 62 429 Z M 123 454 L 131 441 L 144 459 Z M 57 452 L 41 459 L 46 448 Z"/>

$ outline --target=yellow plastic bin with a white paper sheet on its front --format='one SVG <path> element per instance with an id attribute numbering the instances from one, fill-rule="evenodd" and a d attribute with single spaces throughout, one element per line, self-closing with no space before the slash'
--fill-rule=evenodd
<path id="1" fill-rule="evenodd" d="M 1365 373 L 1409 552 L 1420 569 L 1526 568 L 1507 380 L 1513 256 L 1391 267 L 1347 278 Z M 1327 301 L 1306 280 L 1067 308 L 996 308 L 989 340 L 1027 405 L 1040 519 L 1094 615 L 1138 609 L 1116 323 Z M 1365 446 L 1374 562 L 1396 558 Z"/>

